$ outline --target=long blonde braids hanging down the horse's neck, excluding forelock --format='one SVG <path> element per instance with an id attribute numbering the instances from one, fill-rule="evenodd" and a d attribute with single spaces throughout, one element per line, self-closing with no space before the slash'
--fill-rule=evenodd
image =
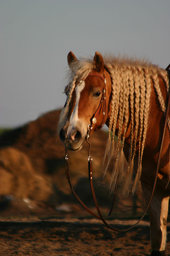
<path id="1" fill-rule="evenodd" d="M 149 108 L 150 108 L 150 94 L 151 94 L 151 85 L 152 80 L 156 80 L 156 76 L 160 75 L 162 78 L 164 77 L 164 82 L 166 84 L 166 90 L 169 91 L 169 80 L 167 78 L 167 75 L 165 74 L 165 71 L 162 69 L 158 69 L 154 65 L 140 65 L 140 66 L 130 66 L 125 65 L 126 67 L 123 69 L 122 65 L 115 65 L 112 64 L 112 68 L 110 68 L 110 65 L 105 64 L 105 67 L 109 70 L 109 73 L 111 75 L 112 80 L 112 94 L 113 90 L 115 93 L 115 98 L 112 96 L 112 102 L 111 102 L 111 116 L 109 120 L 109 136 L 110 131 L 112 129 L 113 137 L 116 132 L 116 124 L 117 119 L 119 120 L 119 127 L 118 127 L 118 142 L 117 142 L 117 150 L 116 150 L 116 162 L 113 169 L 112 177 L 111 177 L 111 184 L 110 188 L 111 190 L 114 189 L 117 177 L 119 176 L 122 169 L 122 152 L 123 152 L 123 146 L 124 146 L 124 137 L 126 132 L 126 121 L 125 118 L 127 116 L 126 107 L 122 106 L 122 89 L 125 87 L 129 88 L 128 92 L 126 91 L 125 98 L 123 98 L 124 101 L 129 97 L 129 109 L 130 109 L 130 122 L 131 122 L 131 139 L 130 139 L 130 148 L 129 148 L 129 158 L 128 158 L 128 169 L 126 171 L 125 175 L 125 181 L 123 184 L 123 195 L 127 196 L 129 193 L 129 186 L 132 180 L 132 173 L 133 173 L 133 161 L 134 157 L 136 155 L 136 142 L 138 139 L 139 142 L 139 149 L 138 149 L 138 167 L 137 167 L 137 175 L 135 177 L 135 182 L 133 185 L 133 193 L 135 193 L 135 190 L 138 187 L 138 183 L 140 180 L 141 170 L 142 170 L 142 155 L 143 150 L 145 147 L 145 141 L 146 141 L 146 133 L 147 133 L 147 127 L 148 127 L 148 121 L 149 121 Z M 122 73 L 120 74 L 120 69 L 122 70 Z M 115 73 L 115 75 L 113 74 Z M 123 77 L 121 77 L 123 76 Z M 113 80 L 113 77 L 115 77 L 115 80 Z M 122 82 L 123 81 L 123 82 Z M 166 107 L 163 100 L 163 97 L 161 95 L 161 91 L 159 88 L 158 81 L 154 82 L 154 86 L 157 91 L 157 96 L 160 102 L 160 106 L 162 107 L 162 111 L 165 113 Z M 130 96 L 129 96 L 130 94 Z M 119 101 L 118 101 L 119 99 Z M 113 113 L 113 109 L 114 113 Z M 124 131 L 122 133 L 122 116 L 120 114 L 122 112 L 123 118 L 124 118 Z M 119 116 L 118 116 L 119 113 Z M 168 122 L 168 127 L 170 129 L 170 122 Z M 134 139 L 133 139 L 134 136 Z M 122 147 L 121 151 L 119 152 L 119 146 L 120 146 L 120 138 L 122 139 Z M 110 143 L 109 143 L 110 144 Z M 112 143 L 110 144 L 112 147 Z M 107 145 L 108 146 L 108 145 Z M 110 162 L 110 158 L 113 154 L 113 148 L 112 150 L 108 150 L 108 163 Z M 107 153 L 106 152 L 106 153 Z M 119 152 L 119 153 L 118 153 Z M 106 169 L 108 168 L 108 164 Z M 105 170 L 106 172 L 106 170 Z"/>

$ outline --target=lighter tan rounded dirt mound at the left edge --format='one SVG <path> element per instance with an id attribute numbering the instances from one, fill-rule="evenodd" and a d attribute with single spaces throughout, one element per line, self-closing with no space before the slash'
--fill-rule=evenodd
<path id="1" fill-rule="evenodd" d="M 52 194 L 51 180 L 35 172 L 25 153 L 14 147 L 0 151 L 0 195 L 48 200 Z"/>

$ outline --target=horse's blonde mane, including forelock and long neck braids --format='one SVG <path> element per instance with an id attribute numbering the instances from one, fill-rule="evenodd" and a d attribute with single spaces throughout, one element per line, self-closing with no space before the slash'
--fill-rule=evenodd
<path id="1" fill-rule="evenodd" d="M 109 119 L 109 135 L 107 139 L 105 157 L 108 155 L 107 166 L 113 157 L 114 152 L 114 136 L 117 131 L 116 146 L 116 162 L 112 172 L 111 189 L 116 185 L 117 179 L 123 173 L 123 147 L 125 133 L 131 124 L 130 147 L 128 158 L 128 169 L 126 171 L 123 183 L 123 194 L 128 195 L 129 187 L 133 174 L 133 162 L 136 155 L 136 142 L 138 140 L 138 166 L 137 174 L 133 184 L 132 192 L 134 193 L 141 175 L 141 161 L 146 141 L 146 133 L 149 120 L 150 94 L 151 88 L 154 86 L 160 109 L 165 113 L 166 104 L 164 102 L 162 92 L 159 87 L 159 77 L 161 77 L 166 85 L 167 94 L 169 94 L 169 79 L 167 71 L 152 65 L 150 62 L 143 60 L 129 59 L 128 57 L 115 57 L 106 55 L 104 58 L 104 67 L 109 72 L 112 81 L 112 100 L 111 115 Z M 71 100 L 72 92 L 75 86 L 79 85 L 81 80 L 85 80 L 87 75 L 95 69 L 93 59 L 81 59 L 73 61 L 70 65 L 68 73 L 69 83 L 65 88 L 67 95 L 67 104 L 63 109 L 58 130 L 63 127 L 68 112 L 68 106 Z M 168 118 L 168 128 L 170 131 L 170 119 Z M 123 130 L 123 135 L 122 135 Z M 122 142 L 121 142 L 122 141 Z M 105 174 L 104 173 L 104 174 Z"/>

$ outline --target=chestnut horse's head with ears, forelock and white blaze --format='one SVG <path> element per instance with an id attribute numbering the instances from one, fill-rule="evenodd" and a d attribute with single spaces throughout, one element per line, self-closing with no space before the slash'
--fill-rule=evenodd
<path id="1" fill-rule="evenodd" d="M 59 134 L 65 147 L 75 151 L 82 147 L 88 125 L 91 134 L 106 122 L 111 79 L 98 52 L 93 63 L 79 61 L 72 52 L 67 60 L 71 81 L 65 88 L 67 100 L 59 121 Z"/>

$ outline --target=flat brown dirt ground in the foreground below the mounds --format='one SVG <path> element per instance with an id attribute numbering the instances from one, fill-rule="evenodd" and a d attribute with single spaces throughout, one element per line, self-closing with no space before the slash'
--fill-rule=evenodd
<path id="1" fill-rule="evenodd" d="M 150 255 L 149 222 L 145 221 L 127 232 L 109 230 L 94 218 L 72 218 L 69 215 L 44 219 L 1 218 L 0 221 L 1 256 Z M 110 223 L 124 228 L 134 224 L 135 220 Z M 170 243 L 166 251 L 168 255 Z"/>

